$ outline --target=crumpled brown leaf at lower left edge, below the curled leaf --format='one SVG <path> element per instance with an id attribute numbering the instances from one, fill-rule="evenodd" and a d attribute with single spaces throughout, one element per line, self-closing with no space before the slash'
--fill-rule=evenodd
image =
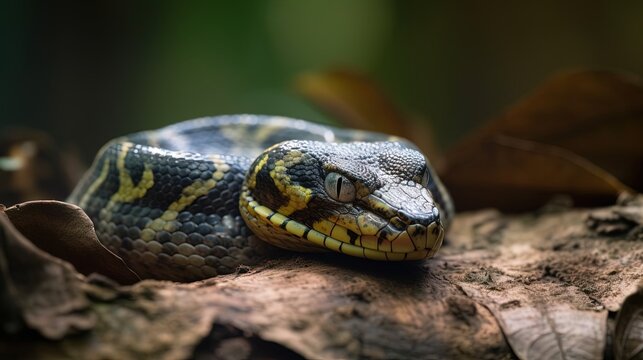
<path id="1" fill-rule="evenodd" d="M 94 327 L 96 316 L 89 311 L 76 270 L 26 239 L 4 208 L 0 208 L 0 271 L 3 329 L 18 332 L 24 321 L 46 338 L 60 339 Z"/>

